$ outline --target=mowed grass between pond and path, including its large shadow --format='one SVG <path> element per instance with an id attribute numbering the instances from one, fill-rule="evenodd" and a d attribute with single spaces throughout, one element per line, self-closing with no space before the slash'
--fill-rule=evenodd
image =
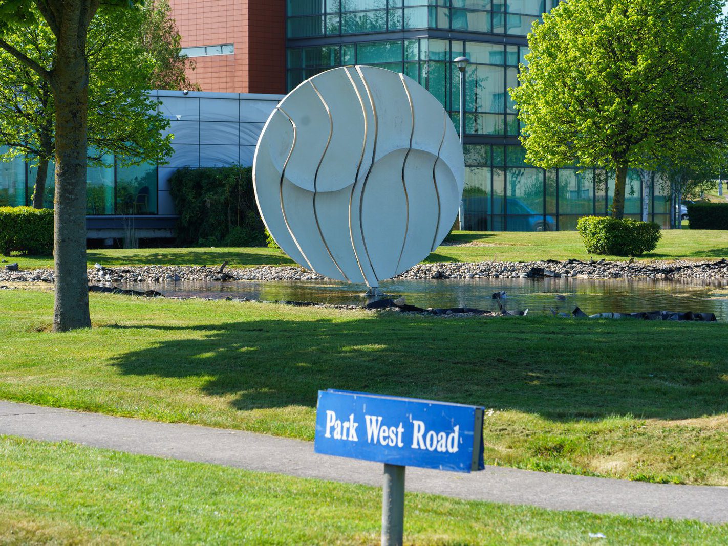
<path id="1" fill-rule="evenodd" d="M 728 485 L 728 324 L 0 291 L 0 397 L 312 440 L 319 389 L 485 405 L 486 462 Z"/>

